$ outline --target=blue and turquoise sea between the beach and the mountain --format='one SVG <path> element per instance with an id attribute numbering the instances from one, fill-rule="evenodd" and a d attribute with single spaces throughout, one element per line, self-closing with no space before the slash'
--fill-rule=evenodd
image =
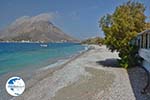
<path id="1" fill-rule="evenodd" d="M 43 68 L 85 49 L 78 43 L 0 43 L 0 75 Z"/>

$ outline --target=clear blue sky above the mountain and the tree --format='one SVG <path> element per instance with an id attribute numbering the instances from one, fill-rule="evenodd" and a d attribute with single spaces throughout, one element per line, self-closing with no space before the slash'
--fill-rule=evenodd
<path id="1" fill-rule="evenodd" d="M 78 39 L 101 36 L 99 20 L 128 0 L 0 0 L 0 29 L 22 16 L 49 14 L 50 21 L 65 33 Z M 150 16 L 150 0 L 144 3 L 145 15 Z M 150 19 L 147 19 L 150 22 Z"/>

